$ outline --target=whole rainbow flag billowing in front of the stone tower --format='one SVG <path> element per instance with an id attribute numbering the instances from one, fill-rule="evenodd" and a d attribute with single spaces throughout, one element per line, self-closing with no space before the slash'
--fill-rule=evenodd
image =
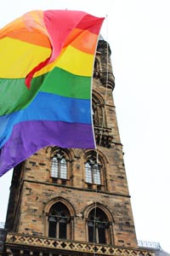
<path id="1" fill-rule="evenodd" d="M 37 10 L 0 30 L 0 176 L 40 148 L 95 148 L 94 55 L 104 18 Z"/>

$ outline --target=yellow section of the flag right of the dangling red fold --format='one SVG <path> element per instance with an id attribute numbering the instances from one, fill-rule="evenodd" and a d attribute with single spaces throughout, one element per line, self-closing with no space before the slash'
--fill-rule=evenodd
<path id="1" fill-rule="evenodd" d="M 60 67 L 70 73 L 90 77 L 92 75 L 93 66 L 94 55 L 89 55 L 69 45 L 65 49 L 62 49 L 56 61 L 42 68 L 41 71 L 36 73 L 36 76 L 48 73 L 54 67 Z"/>

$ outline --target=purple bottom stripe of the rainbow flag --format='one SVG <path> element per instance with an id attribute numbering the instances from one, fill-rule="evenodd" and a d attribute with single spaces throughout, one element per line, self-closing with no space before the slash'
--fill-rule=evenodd
<path id="1" fill-rule="evenodd" d="M 59 121 L 27 121 L 14 125 L 0 150 L 0 177 L 31 154 L 47 146 L 95 148 L 92 125 Z"/>

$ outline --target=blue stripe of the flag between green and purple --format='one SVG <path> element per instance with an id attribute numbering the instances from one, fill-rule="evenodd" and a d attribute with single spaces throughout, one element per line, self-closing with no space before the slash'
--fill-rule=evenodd
<path id="1" fill-rule="evenodd" d="M 91 103 L 90 100 L 39 92 L 27 108 L 0 117 L 0 148 L 8 140 L 13 125 L 29 120 L 91 124 Z"/>

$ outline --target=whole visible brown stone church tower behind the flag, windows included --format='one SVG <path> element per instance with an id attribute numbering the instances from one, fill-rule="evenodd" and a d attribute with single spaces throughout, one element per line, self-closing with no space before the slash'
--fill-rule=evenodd
<path id="1" fill-rule="evenodd" d="M 136 239 L 110 56 L 100 38 L 93 79 L 97 150 L 54 145 L 14 168 L 0 255 L 154 255 Z"/>

